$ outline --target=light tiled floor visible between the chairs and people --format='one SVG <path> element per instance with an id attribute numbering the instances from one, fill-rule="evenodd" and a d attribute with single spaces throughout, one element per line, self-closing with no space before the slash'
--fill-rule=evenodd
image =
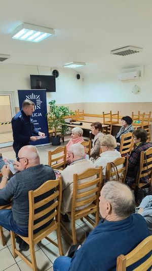
<path id="1" fill-rule="evenodd" d="M 67 140 L 69 140 L 67 138 Z M 65 144 L 67 142 L 65 141 Z M 61 143 L 63 145 L 63 143 Z M 47 146 L 40 146 L 38 147 L 41 163 L 47 164 L 48 163 L 48 150 L 51 150 L 55 148 L 55 146 L 47 145 Z M 6 147 L 1 148 L 0 152 L 3 154 L 3 156 L 8 157 L 10 159 L 15 159 L 15 153 L 13 151 L 12 147 Z M 71 230 L 70 223 L 65 223 L 66 227 L 68 227 L 68 230 Z M 91 231 L 93 229 L 93 226 L 89 222 L 87 222 L 85 219 L 84 221 L 77 220 L 75 223 L 75 226 L 77 227 L 77 238 L 78 243 L 82 243 L 85 240 L 85 233 L 86 231 Z M 12 256 L 12 246 L 11 246 L 11 239 L 10 239 L 10 232 L 8 230 L 4 229 L 4 235 L 7 245 L 5 247 L 2 246 L 0 241 L 0 271 L 7 270 L 7 271 L 28 271 L 31 270 L 28 265 L 18 256 L 16 259 Z M 63 244 L 63 250 L 64 255 L 67 255 L 67 252 L 70 248 L 70 245 L 72 244 L 70 238 L 68 235 L 64 232 L 64 230 L 61 230 L 62 235 L 62 244 Z M 56 232 L 52 232 L 50 234 L 50 237 L 54 240 L 56 240 Z M 17 245 L 18 248 L 18 245 Z M 30 252 L 25 251 L 24 255 L 26 257 L 30 257 Z M 35 245 L 35 256 L 36 256 L 36 262 L 38 270 L 46 271 L 46 270 L 53 270 L 53 262 L 54 260 L 59 256 L 58 249 L 49 243 L 47 239 L 43 239 L 42 242 Z"/>

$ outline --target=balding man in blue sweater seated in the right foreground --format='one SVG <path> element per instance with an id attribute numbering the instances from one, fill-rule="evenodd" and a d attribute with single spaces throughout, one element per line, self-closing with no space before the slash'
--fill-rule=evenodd
<path id="1" fill-rule="evenodd" d="M 128 186 L 117 181 L 107 182 L 99 199 L 103 220 L 91 231 L 72 259 L 61 256 L 55 260 L 54 271 L 116 270 L 117 257 L 126 255 L 149 236 L 144 218 L 132 214 L 135 200 Z M 133 264 L 129 270 L 136 266 Z"/>

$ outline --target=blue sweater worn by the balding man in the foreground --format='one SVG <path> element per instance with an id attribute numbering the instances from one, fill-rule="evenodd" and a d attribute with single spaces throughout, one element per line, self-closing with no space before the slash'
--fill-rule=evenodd
<path id="1" fill-rule="evenodd" d="M 75 252 L 69 271 L 116 270 L 117 257 L 128 254 L 147 236 L 149 231 L 141 215 L 117 222 L 102 220 Z M 133 266 L 127 270 L 133 270 Z"/>

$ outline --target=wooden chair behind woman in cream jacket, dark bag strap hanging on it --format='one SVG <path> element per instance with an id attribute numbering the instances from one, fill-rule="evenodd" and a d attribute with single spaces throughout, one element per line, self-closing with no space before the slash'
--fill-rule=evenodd
<path id="1" fill-rule="evenodd" d="M 126 179 L 126 173 L 128 169 L 128 156 L 126 157 L 119 157 L 115 161 L 113 161 L 117 168 L 122 165 L 121 168 L 118 168 L 118 173 L 121 176 L 122 183 L 125 183 Z M 107 163 L 106 165 L 106 171 L 105 171 L 105 179 L 110 180 L 111 177 L 116 176 L 116 172 L 113 169 L 113 166 L 111 163 Z M 117 177 L 117 176 L 116 176 Z M 112 180 L 115 180 L 115 178 Z"/>

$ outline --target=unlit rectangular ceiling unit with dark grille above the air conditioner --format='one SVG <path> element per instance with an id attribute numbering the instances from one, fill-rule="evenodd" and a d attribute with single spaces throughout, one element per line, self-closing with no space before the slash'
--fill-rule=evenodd
<path id="1" fill-rule="evenodd" d="M 132 54 L 132 53 L 139 53 L 141 51 L 142 51 L 142 48 L 139 48 L 139 47 L 125 46 L 125 47 L 122 47 L 122 48 L 112 50 L 110 53 L 124 56 L 124 55 Z"/>

